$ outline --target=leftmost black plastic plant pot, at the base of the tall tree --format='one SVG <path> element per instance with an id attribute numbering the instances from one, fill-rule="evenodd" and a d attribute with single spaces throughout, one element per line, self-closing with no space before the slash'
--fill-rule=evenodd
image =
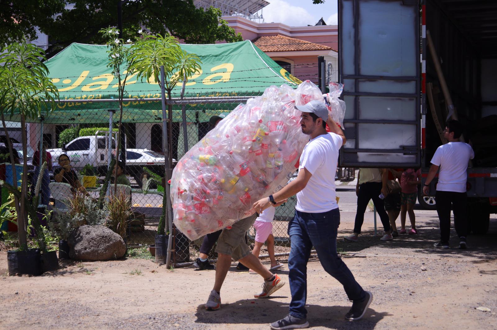
<path id="1" fill-rule="evenodd" d="M 40 249 L 8 251 L 7 266 L 9 275 L 41 275 Z"/>

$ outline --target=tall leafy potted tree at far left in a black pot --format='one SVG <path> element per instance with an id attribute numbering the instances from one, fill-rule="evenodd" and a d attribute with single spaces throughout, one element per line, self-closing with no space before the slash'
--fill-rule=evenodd
<path id="1" fill-rule="evenodd" d="M 10 163 L 14 163 L 12 143 L 5 124 L 7 120 L 17 120 L 21 123 L 21 131 L 26 132 L 26 120 L 38 120 L 45 113 L 55 109 L 55 98 L 58 98 L 57 87 L 48 77 L 48 68 L 43 64 L 45 52 L 33 45 L 23 42 L 8 44 L 1 49 L 0 53 L 0 118 L 7 140 L 10 153 Z M 48 102 L 45 102 L 48 100 Z M 15 116 L 15 118 L 13 118 Z M 22 134 L 23 154 L 27 154 L 27 136 Z M 40 250 L 29 249 L 27 245 L 27 220 L 28 213 L 37 228 L 39 221 L 36 208 L 33 209 L 28 199 L 27 162 L 24 162 L 21 175 L 20 192 L 17 187 L 1 181 L 1 186 L 13 194 L 14 207 L 17 216 L 17 233 L 19 250 L 9 251 L 7 259 L 9 272 L 39 274 Z M 12 166 L 12 183 L 18 182 L 18 171 Z M 37 239 L 41 242 L 42 230 L 37 230 Z M 43 243 L 42 243 L 43 244 Z M 24 269 L 24 266 L 32 265 L 33 271 Z M 10 267 L 11 266 L 11 267 Z"/>

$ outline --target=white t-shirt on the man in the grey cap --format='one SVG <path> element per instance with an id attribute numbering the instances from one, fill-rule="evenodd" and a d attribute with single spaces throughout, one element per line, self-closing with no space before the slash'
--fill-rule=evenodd
<path id="1" fill-rule="evenodd" d="M 295 208 L 301 212 L 327 212 L 338 207 L 335 198 L 335 172 L 342 138 L 335 133 L 311 139 L 300 156 L 299 170 L 312 174 L 307 186 L 297 193 Z"/>

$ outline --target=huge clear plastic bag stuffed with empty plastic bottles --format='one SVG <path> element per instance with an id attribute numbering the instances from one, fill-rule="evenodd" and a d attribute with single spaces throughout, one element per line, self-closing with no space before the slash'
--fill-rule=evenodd
<path id="1" fill-rule="evenodd" d="M 237 106 L 174 168 L 170 182 L 176 228 L 195 240 L 253 214 L 256 200 L 292 177 L 309 141 L 295 105 L 325 102 L 326 97 L 306 80 L 295 90 L 270 86 Z"/>

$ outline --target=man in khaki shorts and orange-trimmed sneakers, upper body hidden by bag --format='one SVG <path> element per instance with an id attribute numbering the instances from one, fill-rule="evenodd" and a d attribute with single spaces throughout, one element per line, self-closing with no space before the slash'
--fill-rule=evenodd
<path id="1" fill-rule="evenodd" d="M 262 292 L 254 294 L 255 298 L 267 298 L 285 284 L 278 275 L 271 273 L 260 263 L 257 257 L 252 255 L 250 248 L 245 242 L 245 232 L 250 229 L 257 216 L 258 214 L 254 213 L 236 222 L 231 229 L 225 228 L 221 232 L 216 247 L 216 252 L 218 253 L 216 280 L 214 288 L 205 304 L 206 310 L 215 311 L 221 308 L 221 296 L 219 293 L 226 274 L 230 269 L 232 259 L 235 262 L 240 261 L 250 269 L 253 269 L 264 279 Z"/>

